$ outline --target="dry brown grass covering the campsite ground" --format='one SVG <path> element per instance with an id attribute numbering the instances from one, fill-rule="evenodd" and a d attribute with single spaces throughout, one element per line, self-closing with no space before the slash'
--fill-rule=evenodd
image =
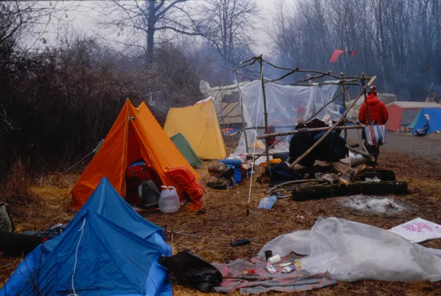
<path id="1" fill-rule="evenodd" d="M 207 165 L 208 163 L 205 163 Z M 165 229 L 167 242 L 172 244 L 174 253 L 191 249 L 205 258 L 229 262 L 237 258 L 252 258 L 269 240 L 281 234 L 298 229 L 310 229 L 319 216 L 345 218 L 388 229 L 407 220 L 420 216 L 435 223 L 441 223 L 441 163 L 426 161 L 384 153 L 380 156 L 380 166 L 392 169 L 399 180 L 409 182 L 411 192 L 405 196 L 396 196 L 395 200 L 407 206 L 400 214 L 379 215 L 342 207 L 339 198 L 327 198 L 319 201 L 296 203 L 289 198 L 278 200 L 271 210 L 257 209 L 263 196 L 264 187 L 252 183 L 250 215 L 245 216 L 248 201 L 249 181 L 245 180 L 239 187 L 230 190 L 212 190 L 207 188 L 204 203 L 206 212 L 197 215 L 187 209 L 176 214 L 145 212 L 142 215 L 156 225 Z M 204 178 L 206 168 L 199 169 Z M 66 177 L 74 183 L 77 175 Z M 58 179 L 58 180 L 62 180 Z M 48 179 L 45 179 L 48 180 Z M 43 187 L 32 187 L 32 193 L 40 196 L 40 203 L 32 205 L 26 217 L 13 216 L 19 229 L 40 229 L 54 223 L 67 222 L 72 214 L 64 212 L 61 203 L 68 193 L 68 186 L 61 186 L 67 181 L 45 181 Z M 59 184 L 57 182 L 60 182 Z M 183 232 L 191 236 L 177 234 Z M 238 238 L 248 238 L 252 244 L 243 247 L 231 247 L 230 242 Z M 441 249 L 441 240 L 424 243 L 427 247 Z M 17 258 L 0 256 L 0 282 L 8 278 Z M 9 264 L 9 265 L 6 265 Z M 5 266 L 6 265 L 6 266 Z M 296 293 L 296 295 L 441 295 L 440 283 L 420 282 L 407 284 L 400 282 L 362 281 L 351 284 L 338 283 L 336 286 L 322 288 L 318 291 Z M 174 285 L 174 295 L 203 295 L 189 288 Z M 211 293 L 210 295 L 216 295 Z M 267 295 L 289 295 L 287 293 L 268 293 Z"/>

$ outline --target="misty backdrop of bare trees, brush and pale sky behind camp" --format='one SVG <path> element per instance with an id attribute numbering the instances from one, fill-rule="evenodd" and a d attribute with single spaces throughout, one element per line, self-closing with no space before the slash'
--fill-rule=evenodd
<path id="1" fill-rule="evenodd" d="M 2 1 L 0 178 L 68 168 L 127 98 L 163 124 L 170 107 L 203 98 L 201 80 L 232 84 L 227 68 L 259 54 L 283 67 L 376 75 L 378 91 L 398 100 L 423 101 L 432 83 L 438 96 L 440 1 Z M 330 63 L 335 49 L 345 52 Z"/>

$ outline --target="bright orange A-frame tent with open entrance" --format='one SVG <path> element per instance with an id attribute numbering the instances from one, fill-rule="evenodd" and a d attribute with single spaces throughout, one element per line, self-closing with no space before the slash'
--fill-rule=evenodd
<path id="1" fill-rule="evenodd" d="M 143 159 L 156 172 L 163 185 L 176 187 L 180 196 L 179 186 L 165 174 L 167 169 L 184 166 L 196 179 L 199 177 L 145 103 L 135 108 L 127 100 L 102 146 L 72 187 L 72 210 L 76 211 L 84 205 L 104 176 L 124 198 L 127 166 L 138 159 Z"/>

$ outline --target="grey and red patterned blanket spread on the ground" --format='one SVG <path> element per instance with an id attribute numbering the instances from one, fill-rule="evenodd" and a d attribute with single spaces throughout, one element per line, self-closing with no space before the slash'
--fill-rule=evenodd
<path id="1" fill-rule="evenodd" d="M 315 290 L 336 284 L 329 273 L 311 275 L 307 271 L 297 269 L 292 273 L 280 273 L 280 264 L 294 263 L 296 256 L 289 254 L 282 262 L 274 264 L 277 273 L 269 273 L 265 269 L 265 258 L 256 257 L 251 261 L 236 260 L 230 264 L 213 264 L 223 275 L 220 286 L 215 288 L 218 293 L 258 294 L 268 291 L 295 292 Z"/>

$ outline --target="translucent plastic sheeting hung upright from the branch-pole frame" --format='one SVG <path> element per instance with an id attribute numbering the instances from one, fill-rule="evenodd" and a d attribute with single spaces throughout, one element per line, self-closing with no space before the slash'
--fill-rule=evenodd
<path id="1" fill-rule="evenodd" d="M 310 119 L 312 115 L 331 101 L 336 95 L 338 84 L 326 84 L 318 86 L 314 84 L 312 87 L 291 86 L 287 84 L 278 84 L 276 82 L 265 83 L 265 94 L 267 99 L 268 124 L 272 126 L 295 126 L 298 117 Z M 227 87 L 209 87 L 206 81 L 201 81 L 201 92 L 205 97 L 212 96 L 215 102 L 220 102 L 225 95 L 231 95 L 234 92 L 240 93 L 240 101 L 243 104 L 243 115 L 246 126 L 265 126 L 265 118 L 263 116 L 263 93 L 260 81 L 241 82 L 239 85 L 233 84 Z M 331 120 L 340 118 L 338 113 L 339 107 L 332 102 L 323 111 L 318 113 L 314 118 L 322 119 L 326 114 Z M 286 128 L 291 130 L 292 128 Z M 265 130 L 258 129 L 258 134 L 264 133 Z M 277 132 L 283 131 L 278 129 Z M 247 141 L 245 141 L 245 133 Z M 247 130 L 242 133 L 238 147 L 234 151 L 234 155 L 245 154 L 247 151 L 252 152 L 252 144 L 256 138 L 255 130 Z M 263 142 L 260 141 L 260 146 Z M 288 145 L 281 144 L 276 146 L 270 152 L 287 152 Z M 256 153 L 262 153 L 264 149 L 256 148 Z"/>

